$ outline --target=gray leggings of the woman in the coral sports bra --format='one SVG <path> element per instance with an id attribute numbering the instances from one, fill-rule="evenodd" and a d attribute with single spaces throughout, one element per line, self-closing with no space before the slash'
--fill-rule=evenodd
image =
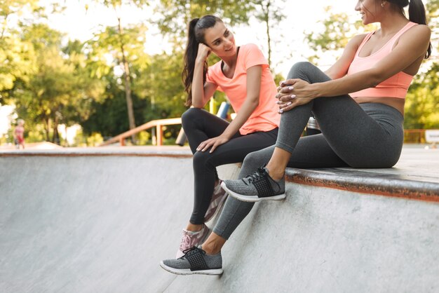
<path id="1" fill-rule="evenodd" d="M 295 64 L 288 79 L 330 80 L 309 62 Z M 322 133 L 300 137 L 311 111 Z M 403 120 L 398 110 L 385 104 L 357 104 L 349 95 L 319 97 L 282 114 L 276 147 L 292 154 L 292 168 L 391 168 L 403 148 Z M 239 178 L 267 163 L 274 147 L 248 154 Z M 253 205 L 229 196 L 213 231 L 229 239 Z"/>

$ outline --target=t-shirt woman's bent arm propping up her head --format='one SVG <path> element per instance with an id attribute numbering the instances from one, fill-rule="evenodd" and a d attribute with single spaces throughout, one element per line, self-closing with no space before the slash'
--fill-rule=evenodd
<path id="1" fill-rule="evenodd" d="M 200 43 L 198 45 L 198 54 L 196 56 L 194 68 L 194 78 L 192 79 L 191 85 L 192 105 L 196 108 L 203 108 L 217 89 L 217 85 L 214 83 L 206 82 L 203 84 L 204 62 L 209 54 L 210 48 L 205 46 L 203 43 Z"/>

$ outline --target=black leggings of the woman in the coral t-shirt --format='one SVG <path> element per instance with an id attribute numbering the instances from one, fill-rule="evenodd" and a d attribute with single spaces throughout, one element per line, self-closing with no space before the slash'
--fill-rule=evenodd
<path id="1" fill-rule="evenodd" d="M 273 97 L 274 102 L 274 97 Z M 242 162 L 247 154 L 259 151 L 276 142 L 278 128 L 267 132 L 253 132 L 241 135 L 237 132 L 229 142 L 220 145 L 210 154 L 196 151 L 201 142 L 217 137 L 224 132 L 229 123 L 208 111 L 191 108 L 182 115 L 182 126 L 194 154 L 194 210 L 189 222 L 203 224 L 208 210 L 217 177 L 219 165 Z"/>

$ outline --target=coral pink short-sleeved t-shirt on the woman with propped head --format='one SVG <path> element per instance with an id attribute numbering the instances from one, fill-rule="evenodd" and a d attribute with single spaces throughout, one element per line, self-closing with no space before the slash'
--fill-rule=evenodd
<path id="1" fill-rule="evenodd" d="M 248 135 L 256 131 L 269 131 L 279 126 L 281 115 L 278 114 L 275 95 L 276 84 L 261 50 L 255 44 L 249 43 L 241 46 L 236 60 L 234 76 L 229 79 L 224 76 L 221 61 L 213 64 L 208 69 L 206 82 L 218 86 L 229 98 L 231 107 L 238 113 L 247 97 L 247 69 L 255 65 L 262 65 L 261 89 L 259 92 L 259 105 L 250 115 L 239 132 Z"/>

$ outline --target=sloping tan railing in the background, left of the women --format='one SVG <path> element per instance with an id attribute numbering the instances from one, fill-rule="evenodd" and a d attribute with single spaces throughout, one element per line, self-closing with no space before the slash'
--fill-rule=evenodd
<path id="1" fill-rule="evenodd" d="M 107 146 L 109 144 L 114 144 L 115 142 L 119 142 L 121 144 L 121 147 L 125 145 L 125 139 L 127 137 L 130 137 L 132 135 L 135 135 L 143 130 L 147 130 L 149 128 L 156 128 L 156 145 L 161 146 L 163 145 L 163 126 L 164 125 L 176 125 L 181 124 L 182 118 L 168 118 L 168 119 L 160 119 L 160 120 L 152 120 L 147 123 L 144 123 L 143 125 L 137 126 L 136 128 L 133 128 L 131 130 L 128 130 L 126 132 L 121 133 L 120 135 L 117 135 L 115 137 L 112 137 L 108 139 L 105 142 L 102 142 L 100 144 L 100 147 Z"/>

